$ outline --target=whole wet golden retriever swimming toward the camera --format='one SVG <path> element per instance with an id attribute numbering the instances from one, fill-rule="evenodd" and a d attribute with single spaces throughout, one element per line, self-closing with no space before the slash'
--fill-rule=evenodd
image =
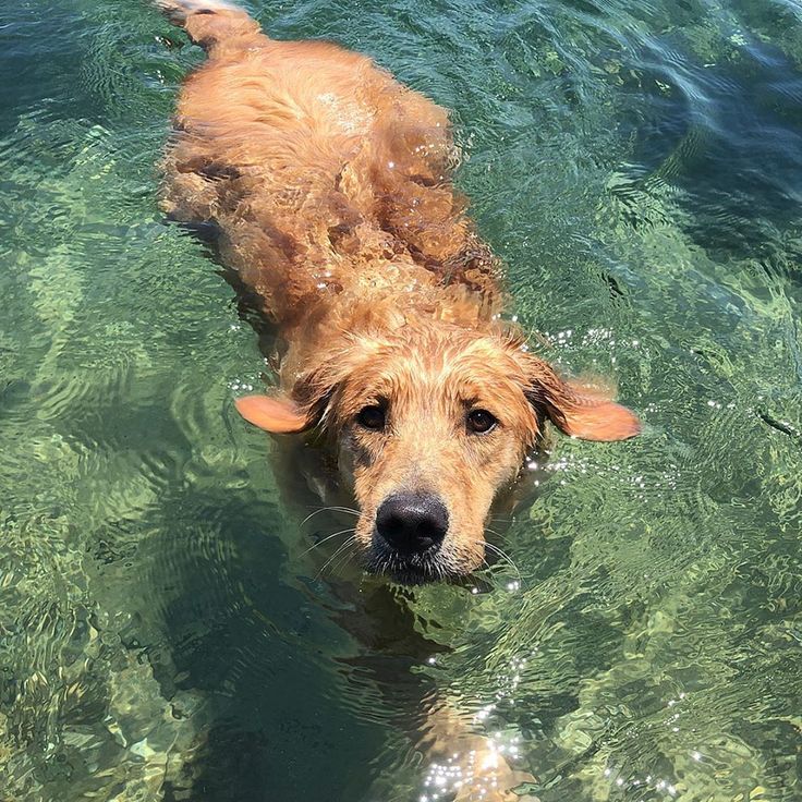
<path id="1" fill-rule="evenodd" d="M 270 39 L 220 0 L 159 5 L 208 54 L 178 101 L 166 207 L 216 228 L 283 342 L 280 392 L 238 410 L 331 440 L 369 570 L 470 573 L 546 418 L 620 440 L 636 416 L 500 320 L 498 264 L 452 186 L 443 109 L 365 56 Z"/>

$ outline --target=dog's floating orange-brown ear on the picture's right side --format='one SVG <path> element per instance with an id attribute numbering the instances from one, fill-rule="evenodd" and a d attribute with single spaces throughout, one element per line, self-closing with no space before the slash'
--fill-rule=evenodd
<path id="1" fill-rule="evenodd" d="M 625 440 L 641 432 L 637 416 L 610 399 L 609 391 L 561 379 L 547 362 L 526 354 L 526 397 L 536 410 L 571 437 Z"/>

